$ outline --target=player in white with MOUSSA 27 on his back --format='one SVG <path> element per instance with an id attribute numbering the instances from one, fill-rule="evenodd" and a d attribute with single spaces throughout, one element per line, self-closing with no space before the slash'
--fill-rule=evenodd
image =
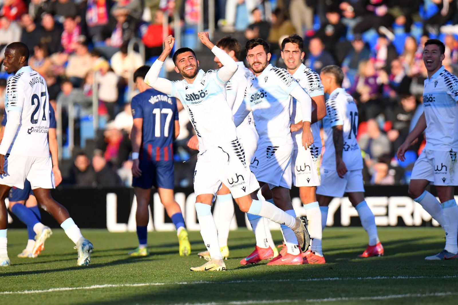
<path id="1" fill-rule="evenodd" d="M 51 197 L 55 187 L 49 156 L 49 95 L 46 81 L 27 65 L 29 51 L 25 44 L 14 42 L 5 49 L 5 71 L 14 74 L 6 85 L 5 109 L 8 120 L 0 143 L 0 266 L 10 265 L 7 253 L 7 212 L 5 198 L 12 186 L 24 188 L 30 181 L 38 203 L 49 212 L 75 243 L 77 264 L 91 261 L 92 243 L 85 239 L 67 209 Z M 47 234 L 44 227 L 37 235 Z"/>

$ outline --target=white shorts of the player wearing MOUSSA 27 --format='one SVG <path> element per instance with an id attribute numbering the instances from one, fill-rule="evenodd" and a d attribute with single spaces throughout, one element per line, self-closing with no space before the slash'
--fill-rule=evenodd
<path id="1" fill-rule="evenodd" d="M 4 170 L 0 184 L 24 188 L 24 181 L 30 181 L 32 190 L 54 189 L 53 163 L 50 157 L 33 157 L 21 155 L 5 156 Z"/>

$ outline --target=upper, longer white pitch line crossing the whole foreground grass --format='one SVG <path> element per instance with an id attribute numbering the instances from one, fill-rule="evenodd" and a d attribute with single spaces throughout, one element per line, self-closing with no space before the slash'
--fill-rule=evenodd
<path id="1" fill-rule="evenodd" d="M 257 282 L 317 282 L 317 281 L 366 281 L 366 280 L 384 280 L 384 279 L 444 279 L 458 278 L 457 275 L 445 275 L 442 277 L 428 276 L 397 276 L 397 277 L 365 277 L 365 278 L 300 278 L 300 279 L 272 279 L 272 280 L 236 280 L 236 281 L 194 281 L 194 282 L 164 282 L 164 283 L 138 283 L 138 284 L 103 284 L 82 287 L 59 287 L 42 290 L 22 290 L 22 291 L 2 291 L 1 294 L 41 294 L 47 292 L 85 290 L 85 289 L 103 289 L 103 288 L 119 288 L 119 287 L 144 287 L 144 286 L 164 286 L 164 285 L 197 285 L 197 284 L 234 284 L 234 283 L 257 283 Z M 213 303 L 212 303 L 213 304 Z"/>

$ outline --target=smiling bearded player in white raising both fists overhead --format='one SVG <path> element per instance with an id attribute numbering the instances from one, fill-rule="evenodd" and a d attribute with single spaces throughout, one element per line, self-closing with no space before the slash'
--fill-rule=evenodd
<path id="1" fill-rule="evenodd" d="M 237 71 L 237 63 L 209 40 L 207 32 L 198 33 L 198 36 L 202 44 L 218 56 L 223 64 L 222 68 L 207 72 L 198 70 L 199 62 L 194 51 L 181 48 L 175 51 L 173 61 L 175 71 L 184 79 L 171 82 L 159 78 L 159 71 L 174 44 L 174 38 L 170 35 L 164 41 L 164 51 L 153 63 L 145 78 L 147 85 L 180 99 L 188 111 L 199 145 L 203 145 L 206 149 L 205 152 L 200 152 L 197 158 L 194 191 L 202 239 L 211 260 L 200 267 L 191 267 L 191 271 L 226 269 L 211 212 L 213 197 L 221 183 L 229 187 L 242 212 L 250 212 L 277 223 L 285 223 L 294 229 L 300 245 L 306 246 L 307 233 L 300 218 L 294 218 L 278 207 L 257 199 L 256 192 L 259 190 L 259 184 L 249 166 L 246 165 L 245 152 L 237 139 L 232 110 L 226 101 L 225 86 Z M 307 145 L 311 142 L 311 137 L 305 139 Z"/>

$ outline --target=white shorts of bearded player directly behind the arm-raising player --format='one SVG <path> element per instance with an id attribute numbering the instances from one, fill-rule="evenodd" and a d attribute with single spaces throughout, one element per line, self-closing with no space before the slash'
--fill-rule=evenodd
<path id="1" fill-rule="evenodd" d="M 291 189 L 291 154 L 293 144 L 257 147 L 250 169 L 256 179 L 265 182 L 272 190 L 276 186 Z"/>

